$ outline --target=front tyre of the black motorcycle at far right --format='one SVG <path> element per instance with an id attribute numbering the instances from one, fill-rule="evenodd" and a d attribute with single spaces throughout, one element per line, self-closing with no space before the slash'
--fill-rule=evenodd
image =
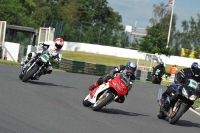
<path id="1" fill-rule="evenodd" d="M 176 122 L 181 118 L 181 116 L 185 113 L 186 110 L 187 106 L 181 104 L 180 108 L 178 109 L 178 112 L 175 115 L 173 115 L 173 117 L 169 117 L 169 123 L 176 124 Z"/>

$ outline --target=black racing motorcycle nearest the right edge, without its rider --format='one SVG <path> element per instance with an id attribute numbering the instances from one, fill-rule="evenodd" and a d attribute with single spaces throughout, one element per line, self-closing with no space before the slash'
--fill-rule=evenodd
<path id="1" fill-rule="evenodd" d="M 163 90 L 159 89 L 158 91 L 159 110 L 157 117 L 159 119 L 168 117 L 170 124 L 176 124 L 198 98 L 199 84 L 195 80 L 188 79 L 186 84 L 177 87 L 179 89 L 169 94 L 163 103 L 160 101 Z"/>

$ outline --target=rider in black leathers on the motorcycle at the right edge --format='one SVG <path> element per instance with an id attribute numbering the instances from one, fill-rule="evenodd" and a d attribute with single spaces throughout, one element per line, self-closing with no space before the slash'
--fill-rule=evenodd
<path id="1" fill-rule="evenodd" d="M 175 92 L 176 89 L 179 89 L 180 85 L 185 84 L 187 79 L 200 82 L 200 64 L 193 62 L 190 68 L 184 68 L 175 75 L 174 83 L 167 86 L 167 90 L 162 94 L 161 104 L 163 104 L 170 93 Z M 198 97 L 200 97 L 200 90 Z M 174 98 L 176 97 L 174 96 Z"/>

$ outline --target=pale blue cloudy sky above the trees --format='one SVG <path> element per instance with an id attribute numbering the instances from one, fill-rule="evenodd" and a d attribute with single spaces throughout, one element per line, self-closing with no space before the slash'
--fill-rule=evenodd
<path id="1" fill-rule="evenodd" d="M 200 0 L 174 0 L 174 13 L 178 16 L 176 28 L 182 31 L 181 22 L 189 21 L 190 17 L 197 18 L 200 13 Z M 168 0 L 107 0 L 108 6 L 122 16 L 124 26 L 136 27 L 138 32 L 145 32 L 143 28 L 151 26 L 149 19 L 153 17 L 153 5 L 168 3 Z M 170 7 L 168 7 L 170 8 Z"/>

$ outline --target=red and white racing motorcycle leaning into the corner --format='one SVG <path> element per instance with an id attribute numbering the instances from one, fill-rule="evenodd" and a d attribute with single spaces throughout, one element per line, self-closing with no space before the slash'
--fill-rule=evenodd
<path id="1" fill-rule="evenodd" d="M 91 106 L 93 111 L 98 111 L 120 96 L 127 95 L 129 82 L 130 80 L 125 73 L 117 73 L 113 79 L 90 91 L 82 103 L 86 107 Z"/>

